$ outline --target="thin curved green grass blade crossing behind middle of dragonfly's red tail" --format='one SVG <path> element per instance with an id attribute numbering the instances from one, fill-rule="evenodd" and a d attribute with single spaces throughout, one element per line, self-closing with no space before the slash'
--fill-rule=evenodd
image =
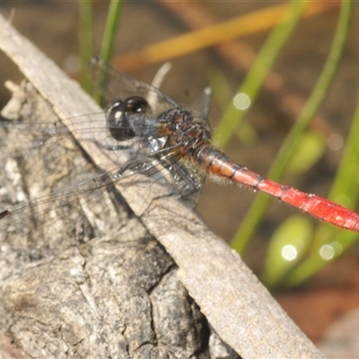
<path id="1" fill-rule="evenodd" d="M 324 69 L 320 74 L 320 78 L 316 83 L 313 92 L 311 92 L 310 99 L 302 109 L 302 113 L 297 119 L 291 132 L 286 137 L 285 143 L 277 154 L 275 162 L 267 173 L 267 176 L 272 180 L 280 180 L 281 176 L 284 174 L 297 145 L 301 141 L 302 134 L 311 123 L 311 119 L 325 99 L 328 88 L 337 72 L 339 61 L 342 57 L 352 13 L 353 1 L 343 1 L 337 24 L 337 31 Z M 254 200 L 253 205 L 250 207 L 250 211 L 244 218 L 240 229 L 236 232 L 232 240 L 232 248 L 239 252 L 243 252 L 267 209 L 269 199 L 270 198 L 266 196 L 258 196 Z"/>

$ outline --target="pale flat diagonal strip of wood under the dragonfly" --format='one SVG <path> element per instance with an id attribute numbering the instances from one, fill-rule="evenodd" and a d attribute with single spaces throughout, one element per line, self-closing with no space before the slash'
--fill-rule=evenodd
<path id="1" fill-rule="evenodd" d="M 0 48 L 52 104 L 65 124 L 66 118 L 100 110 L 77 83 L 1 15 Z M 82 144 L 81 139 L 79 142 Z M 106 158 L 103 161 L 101 166 L 106 165 Z M 136 200 L 129 205 L 136 214 L 140 213 Z M 188 214 L 179 201 L 158 199 L 158 206 L 144 215 L 143 221 L 180 267 L 184 285 L 207 320 L 244 359 L 323 357 L 240 256 L 210 232 L 196 214 Z"/>

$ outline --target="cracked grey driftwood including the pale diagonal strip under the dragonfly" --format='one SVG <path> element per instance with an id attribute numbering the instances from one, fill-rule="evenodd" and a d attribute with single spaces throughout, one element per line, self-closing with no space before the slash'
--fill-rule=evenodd
<path id="1" fill-rule="evenodd" d="M 2 17 L 0 48 L 31 83 L 13 89 L 3 116 L 57 123 L 74 136 L 61 146 L 49 140 L 48 147 L 31 148 L 36 162 L 23 140 L 25 170 L 21 156 L 4 158 L 2 185 L 10 189 L 1 210 L 31 190 L 46 197 L 59 183 L 72 183 L 71 166 L 58 166 L 110 168 L 110 159 L 83 141 L 81 121 L 66 119 L 101 111 L 92 99 Z M 0 137 L 10 141 L 8 149 L 15 141 L 6 138 L 10 132 Z M 46 163 L 47 154 L 61 163 Z M 44 167 L 48 173 L 39 174 Z M 220 358 L 235 357 L 233 349 L 243 358 L 322 357 L 240 256 L 175 197 L 139 196 L 129 183 L 110 189 L 99 199 L 110 204 L 106 213 L 78 198 L 74 218 L 57 215 L 66 206 L 62 196 L 44 205 L 31 232 L 15 225 L 1 234 L 0 355 Z M 154 206 L 146 211 L 149 201 Z"/>

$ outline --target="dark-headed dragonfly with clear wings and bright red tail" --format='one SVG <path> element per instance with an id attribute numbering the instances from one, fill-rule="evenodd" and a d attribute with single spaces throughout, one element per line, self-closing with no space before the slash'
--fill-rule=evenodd
<path id="1" fill-rule="evenodd" d="M 216 149 L 211 144 L 207 119 L 211 94 L 208 88 L 194 104 L 185 108 L 152 84 L 135 80 L 99 58 L 92 59 L 91 72 L 109 104 L 100 114 L 84 115 L 75 120 L 82 125 L 78 131 L 83 139 L 106 153 L 110 167 L 101 168 L 93 164 L 91 158 L 86 159 L 92 167 L 90 177 L 83 171 L 77 171 L 79 166 L 73 163 L 69 179 L 66 180 L 66 174 L 61 175 L 60 184 L 54 185 L 55 189 L 45 196 L 31 198 L 31 194 L 24 193 L 22 197 L 27 200 L 17 198 L 19 203 L 0 212 L 0 232 L 4 230 L 3 235 L 4 232 L 10 235 L 19 228 L 29 232 L 35 226 L 48 225 L 56 221 L 58 214 L 67 222 L 74 221 L 71 211 L 75 206 L 84 213 L 86 208 L 97 206 L 96 214 L 102 214 L 106 203 L 114 203 L 114 196 L 109 196 L 106 203 L 101 203 L 100 199 L 112 193 L 118 182 L 127 181 L 127 188 L 136 187 L 136 196 L 150 191 L 151 182 L 161 184 L 167 190 L 159 196 L 176 196 L 192 208 L 197 204 L 206 175 L 267 193 L 325 223 L 359 232 L 359 215 L 355 212 L 328 199 L 267 179 L 233 162 Z M 104 73 L 107 74 L 106 81 L 101 75 Z M 13 142 L 22 147 L 22 150 L 14 150 L 13 157 L 28 160 L 26 168 L 34 166 L 29 147 L 24 145 L 27 141 L 22 139 L 29 134 L 38 138 L 31 149 L 40 152 L 48 145 L 44 155 L 50 156 L 50 162 L 56 167 L 56 163 L 64 161 L 61 160 L 65 156 L 64 151 L 66 153 L 68 147 L 78 145 L 71 136 L 71 120 L 69 124 L 65 127 L 58 121 L 47 124 L 3 122 L 0 127 L 6 133 L 13 132 Z M 74 143 L 67 144 L 66 139 Z M 57 153 L 60 147 L 64 151 Z M 75 159 L 79 161 L 79 156 Z M 56 203 L 58 208 L 57 214 L 50 215 L 50 218 L 45 208 L 49 203 Z M 84 226 L 81 231 L 86 232 Z M 88 235 L 91 237 L 94 234 Z"/>

